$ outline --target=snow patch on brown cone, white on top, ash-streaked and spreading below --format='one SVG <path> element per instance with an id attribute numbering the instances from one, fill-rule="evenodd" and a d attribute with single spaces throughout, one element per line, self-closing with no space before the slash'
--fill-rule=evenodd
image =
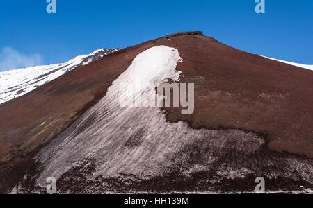
<path id="1" fill-rule="evenodd" d="M 64 175 L 73 177 L 79 173 L 83 175 L 83 179 L 75 177 L 78 181 L 72 180 L 70 187 L 63 187 L 64 191 L 80 191 L 77 184 L 87 181 L 89 184 L 81 186 L 86 189 L 85 193 L 99 189 L 102 189 L 99 193 L 103 193 L 109 187 L 107 181 L 112 178 L 121 189 L 125 186 L 125 181 L 120 178 L 125 175 L 131 182 L 142 183 L 151 177 L 160 180 L 160 176 L 163 177 L 174 168 L 181 171 L 181 175 L 175 175 L 173 180 L 182 175 L 189 179 L 193 173 L 200 174 L 202 171 L 205 173 L 203 175 L 216 171 L 209 178 L 225 179 L 241 178 L 253 171 L 268 178 L 290 177 L 294 166 L 307 167 L 306 171 L 310 172 L 312 164 L 293 155 L 266 157 L 269 164 L 280 164 L 283 170 L 281 172 L 271 169 L 263 161 L 257 163 L 257 166 L 250 164 L 247 155 L 269 155 L 267 150 L 262 149 L 264 139 L 254 132 L 198 130 L 184 122 L 166 122 L 166 115 L 157 107 L 120 106 L 119 98 L 128 100 L 132 92 L 140 94 L 141 101 L 150 101 L 155 96 L 155 87 L 168 79 L 179 81 L 182 71 L 177 70 L 178 64 L 183 63 L 179 51 L 168 46 L 154 46 L 137 55 L 128 69 L 112 83 L 99 103 L 40 150 L 36 158 L 42 164 L 42 172 L 38 175 L 36 184 L 45 187 L 50 175 L 62 181 Z M 137 83 L 141 83 L 141 86 Z M 241 153 L 241 148 L 245 147 L 250 148 Z M 203 155 L 193 156 L 194 153 Z M 225 159 L 227 154 L 235 159 Z M 240 156 L 234 156 L 237 154 Z M 195 162 L 197 157 L 200 161 Z M 243 159 L 245 157 L 247 160 Z M 264 167 L 266 171 L 263 171 Z M 300 177 L 312 180 L 310 173 L 298 169 Z M 175 173 L 177 172 L 172 174 Z M 107 180 L 102 182 L 102 178 Z M 66 182 L 63 181 L 62 184 Z M 20 190 L 23 189 L 16 187 L 13 193 L 20 193 Z"/>

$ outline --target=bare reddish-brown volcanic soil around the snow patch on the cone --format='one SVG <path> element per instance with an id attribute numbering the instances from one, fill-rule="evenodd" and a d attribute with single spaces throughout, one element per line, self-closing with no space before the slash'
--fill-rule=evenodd
<path id="1" fill-rule="evenodd" d="M 258 132 L 272 150 L 312 158 L 313 71 L 199 34 L 180 33 L 122 49 L 0 105 L 0 192 L 23 174 L 33 154 L 106 94 L 138 53 L 156 45 L 178 49 L 184 59 L 177 66 L 181 82 L 195 83 L 195 112 L 182 116 L 179 108 L 168 108 L 168 121 Z"/>

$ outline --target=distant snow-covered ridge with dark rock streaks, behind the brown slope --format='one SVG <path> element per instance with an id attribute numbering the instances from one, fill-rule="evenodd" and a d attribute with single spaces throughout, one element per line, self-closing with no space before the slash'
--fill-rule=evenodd
<path id="1" fill-rule="evenodd" d="M 40 85 L 48 83 L 72 69 L 86 65 L 115 51 L 118 49 L 99 49 L 88 55 L 79 55 L 63 64 L 0 72 L 0 104 L 31 92 Z"/>

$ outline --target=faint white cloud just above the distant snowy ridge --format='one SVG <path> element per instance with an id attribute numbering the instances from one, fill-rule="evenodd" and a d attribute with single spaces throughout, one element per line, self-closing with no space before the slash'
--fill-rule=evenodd
<path id="1" fill-rule="evenodd" d="M 41 65 L 42 55 L 35 53 L 24 55 L 11 47 L 4 47 L 0 52 L 0 71 Z"/>

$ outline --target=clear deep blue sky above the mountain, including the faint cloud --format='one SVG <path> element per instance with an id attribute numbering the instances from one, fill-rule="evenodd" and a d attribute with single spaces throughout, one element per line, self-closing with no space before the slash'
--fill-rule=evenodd
<path id="1" fill-rule="evenodd" d="M 313 64 L 313 1 L 266 0 L 0 0 L 0 71 L 65 62 L 100 48 L 122 48 L 177 31 L 237 49 Z"/>

